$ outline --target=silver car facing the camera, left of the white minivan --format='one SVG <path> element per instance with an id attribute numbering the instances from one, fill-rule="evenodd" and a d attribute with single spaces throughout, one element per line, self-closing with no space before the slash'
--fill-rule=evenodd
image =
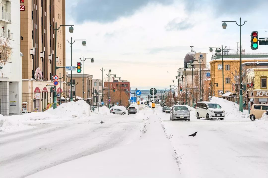
<path id="1" fill-rule="evenodd" d="M 190 121 L 190 111 L 186 106 L 174 105 L 170 111 L 170 120 Z"/>

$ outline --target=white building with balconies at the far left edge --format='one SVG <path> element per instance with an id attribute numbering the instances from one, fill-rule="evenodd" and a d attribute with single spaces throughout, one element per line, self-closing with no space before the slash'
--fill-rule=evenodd
<path id="1" fill-rule="evenodd" d="M 0 1 L 0 113 L 21 114 L 20 3 Z"/>

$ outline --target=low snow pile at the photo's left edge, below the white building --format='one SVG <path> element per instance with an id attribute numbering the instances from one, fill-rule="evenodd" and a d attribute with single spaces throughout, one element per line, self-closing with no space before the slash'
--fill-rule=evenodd
<path id="1" fill-rule="evenodd" d="M 20 120 L 12 116 L 3 116 L 0 114 L 0 132 L 12 132 L 14 130 L 24 130 L 28 126 L 23 125 Z"/>

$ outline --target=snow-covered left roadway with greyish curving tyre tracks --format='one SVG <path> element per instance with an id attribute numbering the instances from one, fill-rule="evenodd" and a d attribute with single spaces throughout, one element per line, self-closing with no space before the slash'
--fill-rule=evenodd
<path id="1" fill-rule="evenodd" d="M 144 125 L 143 117 L 137 115 L 90 118 L 30 121 L 32 125 L 35 123 L 35 128 L 0 135 L 0 177 L 25 177 L 66 161 L 131 143 L 139 139 Z"/>

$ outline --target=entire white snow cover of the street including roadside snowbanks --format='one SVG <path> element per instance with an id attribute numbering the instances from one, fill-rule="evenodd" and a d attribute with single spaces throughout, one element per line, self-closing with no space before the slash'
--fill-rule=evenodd
<path id="1" fill-rule="evenodd" d="M 211 101 L 224 120 L 198 120 L 190 106 L 190 122 L 171 121 L 160 105 L 91 112 L 83 100 L 0 115 L 0 177 L 268 177 L 268 116 L 251 121 L 237 104 Z"/>

